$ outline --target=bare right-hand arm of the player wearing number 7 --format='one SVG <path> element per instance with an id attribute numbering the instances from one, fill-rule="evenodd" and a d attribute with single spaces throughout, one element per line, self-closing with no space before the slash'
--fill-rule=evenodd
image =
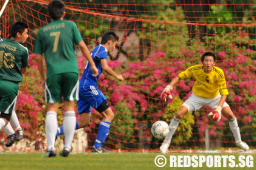
<path id="1" fill-rule="evenodd" d="M 81 49 L 83 55 L 85 56 L 85 58 L 90 63 L 90 66 L 91 66 L 90 69 L 91 69 L 91 72 L 93 72 L 93 76 L 98 76 L 99 75 L 99 70 L 95 66 L 95 63 L 93 62 L 93 59 L 91 58 L 90 52 L 89 52 L 85 42 L 84 41 L 80 41 L 78 43 L 78 46 L 80 47 L 80 49 Z"/>

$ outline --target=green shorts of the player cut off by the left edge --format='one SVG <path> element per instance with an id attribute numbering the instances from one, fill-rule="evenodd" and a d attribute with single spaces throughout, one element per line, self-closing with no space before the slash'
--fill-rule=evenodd
<path id="1" fill-rule="evenodd" d="M 10 120 L 18 97 L 19 83 L 0 80 L 0 117 Z"/>

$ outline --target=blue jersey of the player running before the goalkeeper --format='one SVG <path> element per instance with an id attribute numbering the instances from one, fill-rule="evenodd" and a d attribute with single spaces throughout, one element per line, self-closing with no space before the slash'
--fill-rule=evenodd
<path id="1" fill-rule="evenodd" d="M 107 49 L 103 47 L 101 44 L 99 44 L 99 46 L 95 47 L 91 51 L 91 57 L 93 58 L 93 61 L 99 70 L 99 75 L 101 75 L 102 73 L 101 59 L 107 60 Z M 80 86 L 83 86 L 85 88 L 90 86 L 97 86 L 99 75 L 97 77 L 93 76 L 93 73 L 90 70 L 90 63 L 87 62 L 83 76 L 79 83 Z"/>

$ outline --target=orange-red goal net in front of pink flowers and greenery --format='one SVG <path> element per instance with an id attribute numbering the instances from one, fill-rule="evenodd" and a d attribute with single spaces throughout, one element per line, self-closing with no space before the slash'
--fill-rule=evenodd
<path id="1" fill-rule="evenodd" d="M 213 52 L 216 66 L 224 70 L 229 88 L 229 103 L 240 126 L 241 138 L 251 148 L 256 144 L 256 53 L 255 1 L 64 1 L 65 19 L 74 21 L 91 50 L 106 30 L 119 36 L 118 46 L 108 55 L 108 64 L 122 73 L 118 82 L 106 73 L 98 87 L 108 98 L 115 118 L 105 146 L 119 151 L 157 151 L 162 140 L 151 134 L 157 120 L 168 124 L 191 94 L 194 79 L 182 80 L 172 92 L 173 100 L 160 100 L 163 88 L 178 73 L 201 63 L 204 52 Z M 192 3 L 194 2 L 194 4 Z M 2 7 L 4 1 L 0 2 Z M 49 1 L 10 0 L 2 13 L 2 38 L 9 38 L 10 25 L 23 21 L 29 25 L 29 69 L 20 83 L 16 112 L 25 131 L 16 143 L 20 150 L 34 149 L 36 141 L 45 143 L 44 89 L 34 60 L 37 31 L 51 22 Z M 80 75 L 84 56 L 77 49 Z M 57 64 L 57 63 L 56 63 Z M 58 112 L 59 125 L 63 113 Z M 172 137 L 171 149 L 235 148 L 227 118 L 216 122 L 207 117 L 205 106 L 185 115 Z M 77 110 L 76 110 L 77 111 Z M 77 118 L 79 114 L 77 114 Z M 75 151 L 91 148 L 102 115 L 93 110 L 90 126 L 76 132 Z M 1 134 L 4 143 L 7 135 Z M 57 140 L 62 144 L 63 137 Z M 87 143 L 88 141 L 88 143 Z M 77 148 L 78 147 L 78 148 Z M 4 148 L 4 146 L 2 146 Z M 12 148 L 13 149 L 13 148 Z"/>

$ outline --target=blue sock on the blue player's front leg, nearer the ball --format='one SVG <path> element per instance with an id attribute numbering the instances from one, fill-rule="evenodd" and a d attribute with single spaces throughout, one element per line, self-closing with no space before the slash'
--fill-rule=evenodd
<path id="1" fill-rule="evenodd" d="M 94 143 L 95 148 L 99 148 L 99 146 L 102 146 L 102 144 L 106 140 L 108 132 L 109 132 L 110 124 L 111 123 L 108 121 L 101 121 L 101 123 L 99 124 L 98 135 L 97 135 L 96 141 Z"/>

